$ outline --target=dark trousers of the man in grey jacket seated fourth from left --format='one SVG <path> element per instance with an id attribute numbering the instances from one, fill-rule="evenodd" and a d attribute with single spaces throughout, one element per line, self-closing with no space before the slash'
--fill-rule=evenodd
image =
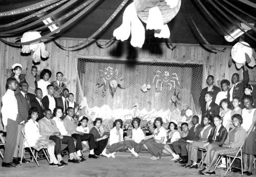
<path id="1" fill-rule="evenodd" d="M 92 134 L 72 134 L 72 137 L 76 139 L 76 151 L 82 150 L 82 141 L 88 141 L 90 150 L 95 148 L 95 140 Z"/>

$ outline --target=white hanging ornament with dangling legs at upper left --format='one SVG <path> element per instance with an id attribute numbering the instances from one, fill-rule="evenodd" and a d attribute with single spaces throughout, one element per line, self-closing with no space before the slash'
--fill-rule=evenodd
<path id="1" fill-rule="evenodd" d="M 37 31 L 29 31 L 23 34 L 22 38 L 20 38 L 21 42 L 28 42 L 30 40 L 35 40 L 40 38 L 41 35 Z M 22 46 L 22 53 L 30 53 L 33 52 L 32 59 L 34 62 L 39 62 L 42 58 L 48 58 L 49 52 L 46 51 L 45 43 L 41 40 L 32 42 L 29 45 Z"/>

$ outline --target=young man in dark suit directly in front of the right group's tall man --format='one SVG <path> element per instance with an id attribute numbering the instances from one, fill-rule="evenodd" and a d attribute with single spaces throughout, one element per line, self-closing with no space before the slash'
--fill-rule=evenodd
<path id="1" fill-rule="evenodd" d="M 214 97 L 214 93 L 213 92 L 206 92 L 205 93 L 205 102 L 206 105 L 205 107 L 202 107 L 202 117 L 206 114 L 211 115 L 212 117 L 214 117 L 215 115 L 219 115 L 220 114 L 220 107 L 218 104 L 216 104 L 212 98 Z M 203 119 L 201 120 L 201 125 L 204 125 Z"/>

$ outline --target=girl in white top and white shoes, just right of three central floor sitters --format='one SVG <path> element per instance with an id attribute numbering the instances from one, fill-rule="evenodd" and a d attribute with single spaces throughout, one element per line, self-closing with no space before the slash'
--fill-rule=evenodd
<path id="1" fill-rule="evenodd" d="M 178 131 L 178 122 L 176 120 L 172 120 L 168 125 L 169 137 L 164 145 L 163 153 L 172 155 L 173 159 L 171 161 L 175 161 L 180 158 L 178 154 L 174 152 L 173 142 L 178 141 L 180 139 L 180 133 Z"/>

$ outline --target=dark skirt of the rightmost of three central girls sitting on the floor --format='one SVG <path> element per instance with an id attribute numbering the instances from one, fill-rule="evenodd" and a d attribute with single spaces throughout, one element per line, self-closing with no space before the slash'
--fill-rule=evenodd
<path id="1" fill-rule="evenodd" d="M 146 150 L 150 152 L 155 157 L 162 156 L 162 150 L 164 149 L 164 144 L 156 143 L 154 140 L 146 140 L 142 143 L 146 146 Z"/>

